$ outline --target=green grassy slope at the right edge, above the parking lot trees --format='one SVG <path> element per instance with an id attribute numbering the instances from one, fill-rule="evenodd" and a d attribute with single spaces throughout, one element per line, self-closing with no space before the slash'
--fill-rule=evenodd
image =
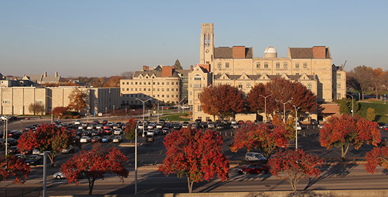
<path id="1" fill-rule="evenodd" d="M 376 122 L 388 123 L 388 102 L 384 104 L 384 101 L 379 100 L 367 100 L 367 102 L 359 102 L 360 110 L 357 112 L 361 117 L 367 117 L 368 108 L 375 109 Z"/>

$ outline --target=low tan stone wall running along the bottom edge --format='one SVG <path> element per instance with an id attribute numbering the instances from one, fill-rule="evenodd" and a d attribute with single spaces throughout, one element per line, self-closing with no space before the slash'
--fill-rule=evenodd
<path id="1" fill-rule="evenodd" d="M 86 197 L 87 195 L 85 195 Z M 368 196 L 368 197 L 380 197 L 388 196 L 388 189 L 350 189 L 350 190 L 308 190 L 308 191 L 250 191 L 250 192 L 210 192 L 210 193 L 182 193 L 182 194 L 117 194 L 117 195 L 93 195 L 98 197 L 307 197 L 307 196 L 320 196 L 320 197 L 353 197 L 353 196 Z M 69 196 L 69 197 L 84 197 L 82 196 Z"/>

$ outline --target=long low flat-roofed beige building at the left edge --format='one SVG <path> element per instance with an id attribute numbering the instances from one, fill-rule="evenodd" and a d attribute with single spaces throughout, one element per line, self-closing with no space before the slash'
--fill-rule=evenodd
<path id="1" fill-rule="evenodd" d="M 45 113 L 57 106 L 68 106 L 71 92 L 78 88 L 87 94 L 87 107 L 81 114 L 91 115 L 118 109 L 120 104 L 119 88 L 87 88 L 82 86 L 60 87 L 2 87 L 0 88 L 1 114 L 33 115 L 28 110 L 30 104 L 42 104 Z M 88 111 L 89 109 L 89 111 Z"/>

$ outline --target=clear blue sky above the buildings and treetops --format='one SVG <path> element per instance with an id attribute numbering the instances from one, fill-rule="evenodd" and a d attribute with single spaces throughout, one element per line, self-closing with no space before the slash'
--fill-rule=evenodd
<path id="1" fill-rule="evenodd" d="M 202 23 L 215 46 L 328 46 L 333 64 L 388 69 L 388 1 L 5 1 L 0 73 L 110 77 L 143 65 L 200 63 Z"/>

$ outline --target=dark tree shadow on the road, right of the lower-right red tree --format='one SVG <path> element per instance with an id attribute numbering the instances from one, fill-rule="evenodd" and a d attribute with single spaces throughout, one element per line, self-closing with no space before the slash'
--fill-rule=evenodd
<path id="1" fill-rule="evenodd" d="M 303 190 L 308 189 L 315 183 L 324 180 L 325 178 L 331 178 L 333 176 L 339 176 L 339 177 L 345 177 L 348 176 L 349 173 L 351 173 L 351 169 L 353 169 L 355 165 L 324 165 L 321 167 L 321 175 L 314 177 L 314 178 L 308 178 L 308 184 Z M 322 174 L 323 173 L 323 174 Z"/>

